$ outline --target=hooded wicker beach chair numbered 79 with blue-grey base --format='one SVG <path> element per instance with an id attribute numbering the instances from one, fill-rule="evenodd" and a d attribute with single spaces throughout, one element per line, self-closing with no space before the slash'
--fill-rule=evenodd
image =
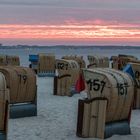
<path id="1" fill-rule="evenodd" d="M 10 93 L 10 118 L 37 115 L 36 75 L 30 68 L 1 66 Z"/>

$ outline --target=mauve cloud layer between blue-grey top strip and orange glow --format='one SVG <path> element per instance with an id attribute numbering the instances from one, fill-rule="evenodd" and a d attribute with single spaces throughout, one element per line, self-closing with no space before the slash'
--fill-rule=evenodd
<path id="1" fill-rule="evenodd" d="M 117 21 L 140 23 L 140 9 L 81 9 L 52 8 L 42 6 L 1 6 L 0 23 L 2 24 L 63 24 L 66 21 Z M 128 16 L 129 15 L 129 16 Z"/>

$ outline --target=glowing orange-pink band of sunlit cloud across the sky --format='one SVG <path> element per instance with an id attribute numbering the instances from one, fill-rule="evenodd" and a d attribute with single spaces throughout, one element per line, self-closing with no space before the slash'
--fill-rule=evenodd
<path id="1" fill-rule="evenodd" d="M 140 40 L 140 25 L 130 24 L 65 24 L 65 25 L 0 25 L 0 39 L 49 39 L 136 41 Z"/>

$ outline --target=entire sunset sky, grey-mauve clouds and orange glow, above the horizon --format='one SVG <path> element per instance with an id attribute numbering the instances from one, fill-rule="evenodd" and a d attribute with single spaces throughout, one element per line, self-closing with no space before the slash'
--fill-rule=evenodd
<path id="1" fill-rule="evenodd" d="M 0 0 L 6 45 L 140 45 L 140 0 Z"/>

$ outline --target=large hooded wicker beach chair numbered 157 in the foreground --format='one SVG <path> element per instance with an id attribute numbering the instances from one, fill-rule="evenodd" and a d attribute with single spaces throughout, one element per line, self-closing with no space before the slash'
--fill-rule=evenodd
<path id="1" fill-rule="evenodd" d="M 87 99 L 78 103 L 77 136 L 108 138 L 130 134 L 134 81 L 109 68 L 84 69 Z"/>

